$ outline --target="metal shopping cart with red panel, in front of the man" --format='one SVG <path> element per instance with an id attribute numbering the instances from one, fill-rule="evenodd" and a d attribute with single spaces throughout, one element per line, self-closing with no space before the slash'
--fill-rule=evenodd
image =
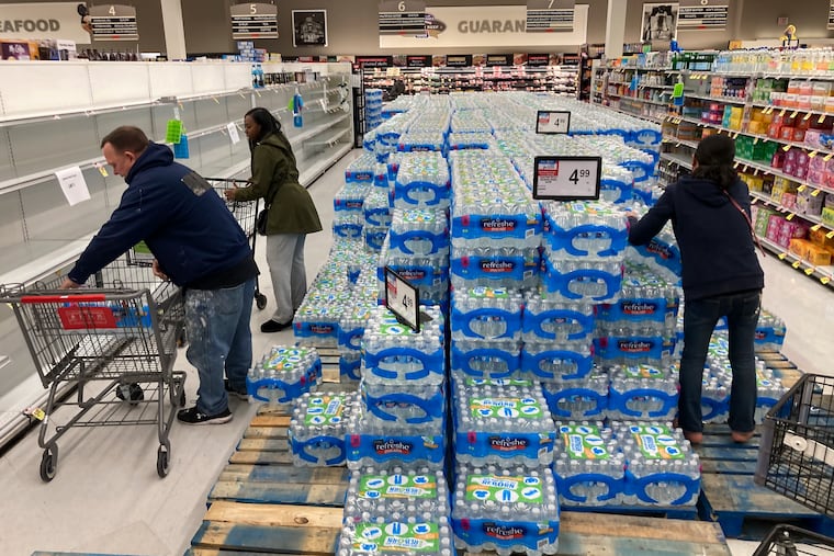
<path id="1" fill-rule="evenodd" d="M 126 253 L 79 290 L 56 290 L 63 277 L 0 285 L 49 389 L 44 408 L 27 410 L 41 421 L 44 481 L 55 477 L 57 441 L 72 427 L 156 424 L 157 473 L 168 475 L 168 435 L 185 404 L 185 373 L 173 371 L 185 311 L 182 290 L 154 276 L 151 262 Z"/>

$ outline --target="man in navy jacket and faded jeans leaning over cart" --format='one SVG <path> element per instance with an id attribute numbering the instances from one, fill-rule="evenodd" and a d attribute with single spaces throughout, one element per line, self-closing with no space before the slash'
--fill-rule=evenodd
<path id="1" fill-rule="evenodd" d="M 127 189 L 63 287 L 78 287 L 144 240 L 156 258 L 154 273 L 185 291 L 185 355 L 200 387 L 194 407 L 180 410 L 177 419 L 230 421 L 223 373 L 230 388 L 245 393 L 252 363 L 249 317 L 258 268 L 246 234 L 203 178 L 174 162 L 168 147 L 150 143 L 138 127 L 114 129 L 101 149 Z"/>

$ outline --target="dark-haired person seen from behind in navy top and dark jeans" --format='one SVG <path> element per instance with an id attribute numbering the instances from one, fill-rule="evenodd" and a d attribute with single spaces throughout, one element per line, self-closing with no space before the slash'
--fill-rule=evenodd
<path id="1" fill-rule="evenodd" d="M 722 316 L 733 370 L 732 438 L 746 442 L 755 428 L 753 343 L 765 275 L 752 236 L 750 193 L 733 169 L 734 157 L 730 137 L 706 137 L 695 151 L 692 175 L 667 186 L 640 222 L 629 217 L 631 243 L 647 243 L 672 220 L 680 248 L 685 307 L 678 425 L 692 443 L 702 440 L 701 379 L 710 336 Z"/>

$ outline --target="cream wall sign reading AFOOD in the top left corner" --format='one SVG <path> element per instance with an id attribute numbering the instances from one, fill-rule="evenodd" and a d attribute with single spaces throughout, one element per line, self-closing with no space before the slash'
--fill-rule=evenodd
<path id="1" fill-rule="evenodd" d="M 0 38 L 55 38 L 89 44 L 78 2 L 0 4 Z"/>

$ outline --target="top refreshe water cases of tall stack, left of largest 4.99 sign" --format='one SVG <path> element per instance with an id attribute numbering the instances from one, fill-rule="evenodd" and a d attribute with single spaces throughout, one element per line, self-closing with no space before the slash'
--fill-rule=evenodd
<path id="1" fill-rule="evenodd" d="M 539 283 L 542 216 L 500 152 L 450 154 L 454 200 L 451 280 L 455 290 L 520 290 Z"/>

